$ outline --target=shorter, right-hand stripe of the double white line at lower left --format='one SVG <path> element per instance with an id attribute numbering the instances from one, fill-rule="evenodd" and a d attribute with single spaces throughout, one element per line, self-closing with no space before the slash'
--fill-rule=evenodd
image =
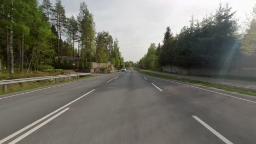
<path id="1" fill-rule="evenodd" d="M 50 121 L 52 121 L 54 118 L 60 116 L 62 113 L 66 112 L 69 109 L 69 107 L 67 107 L 66 109 L 62 110 L 61 112 L 57 113 L 56 115 L 54 115 L 53 117 L 47 119 L 46 121 L 44 121 L 43 123 L 37 125 L 37 127 L 34 127 L 33 129 L 27 131 L 27 133 L 19 136 L 17 139 L 9 142 L 9 144 L 15 144 L 17 142 L 19 142 L 20 140 L 24 139 L 26 136 L 32 134 L 34 131 L 38 130 L 39 128 L 43 127 L 45 124 L 49 123 Z"/>

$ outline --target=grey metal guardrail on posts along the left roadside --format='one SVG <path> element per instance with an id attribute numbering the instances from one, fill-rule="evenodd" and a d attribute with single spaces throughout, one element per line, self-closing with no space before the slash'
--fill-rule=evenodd
<path id="1" fill-rule="evenodd" d="M 22 82 L 30 82 L 30 81 L 41 81 L 41 80 L 50 80 L 55 79 L 55 82 L 57 82 L 57 79 L 63 78 L 63 77 L 79 77 L 82 75 L 91 75 L 91 73 L 80 73 L 80 74 L 70 74 L 70 75 L 56 75 L 56 76 L 44 76 L 44 77 L 31 77 L 26 79 L 13 79 L 13 80 L 2 80 L 0 81 L 0 85 L 3 86 L 3 91 L 7 92 L 7 85 L 12 83 L 22 83 Z"/>

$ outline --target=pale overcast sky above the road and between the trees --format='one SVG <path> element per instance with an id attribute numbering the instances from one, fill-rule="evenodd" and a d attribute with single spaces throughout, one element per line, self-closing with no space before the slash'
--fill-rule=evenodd
<path id="1" fill-rule="evenodd" d="M 42 2 L 42 0 L 39 0 Z M 51 0 L 55 4 L 55 0 Z M 62 0 L 66 16 L 77 16 L 80 0 Z M 147 53 L 150 43 L 161 43 L 167 26 L 174 34 L 189 25 L 191 15 L 201 20 L 210 13 L 215 14 L 219 2 L 216 0 L 87 0 L 88 9 L 94 15 L 96 31 L 108 31 L 118 38 L 125 61 L 138 61 Z M 228 2 L 239 24 L 245 14 L 251 13 L 254 0 L 232 0 Z"/>

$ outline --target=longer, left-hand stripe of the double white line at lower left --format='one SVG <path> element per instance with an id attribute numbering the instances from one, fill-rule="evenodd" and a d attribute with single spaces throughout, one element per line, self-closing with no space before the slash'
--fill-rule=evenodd
<path id="1" fill-rule="evenodd" d="M 11 135 L 5 137 L 4 139 L 2 139 L 2 140 L 0 141 L 0 144 L 4 143 L 5 141 L 8 141 L 9 139 L 13 138 L 13 137 L 16 136 L 16 135 L 19 135 L 19 134 L 22 133 L 23 131 L 25 131 L 25 130 L 31 128 L 31 127 L 33 127 L 33 125 L 36 125 L 37 123 L 42 122 L 44 119 L 50 117 L 50 116 L 53 115 L 54 113 L 56 113 L 56 112 L 62 110 L 63 108 L 67 107 L 68 105 L 71 105 L 71 104 L 74 103 L 75 101 L 77 101 L 77 100 L 79 100 L 79 99 L 85 97 L 85 95 L 88 95 L 89 93 L 91 93 L 91 92 L 93 92 L 93 91 L 95 91 L 95 89 L 92 89 L 92 91 L 90 91 L 90 92 L 88 92 L 88 93 L 82 95 L 81 97 L 79 97 L 79 98 L 77 98 L 77 99 L 71 101 L 70 103 L 68 103 L 68 104 L 66 104 L 66 105 L 64 105 L 64 106 L 62 106 L 62 107 L 60 107 L 59 109 L 57 109 L 57 110 L 55 110 L 55 111 L 49 113 L 48 115 L 46 115 L 46 116 L 44 116 L 44 117 L 38 119 L 36 122 L 33 122 L 33 123 L 31 123 L 30 125 L 27 125 L 26 127 L 24 127 L 24 128 L 22 128 L 22 129 L 16 131 L 15 133 L 13 133 L 13 134 L 11 134 Z"/>

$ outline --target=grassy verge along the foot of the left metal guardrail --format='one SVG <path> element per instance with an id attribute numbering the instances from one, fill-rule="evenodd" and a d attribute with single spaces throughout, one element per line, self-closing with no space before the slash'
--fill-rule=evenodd
<path id="1" fill-rule="evenodd" d="M 70 81 L 83 80 L 83 79 L 88 79 L 90 77 L 94 77 L 94 75 L 83 76 L 83 77 L 80 77 L 79 79 L 69 79 L 69 80 L 65 80 L 65 81 L 59 81 L 57 83 L 49 82 L 49 81 L 24 82 L 24 83 L 21 83 L 21 84 L 15 83 L 15 84 L 8 85 L 8 91 L 7 92 L 3 92 L 2 87 L 1 87 L 0 95 L 1 94 L 14 93 L 14 92 L 20 92 L 20 91 L 33 89 L 33 88 L 38 88 L 38 87 L 52 86 L 52 85 L 56 85 L 56 84 L 59 84 L 59 83 L 65 83 L 65 82 L 70 82 Z"/>

